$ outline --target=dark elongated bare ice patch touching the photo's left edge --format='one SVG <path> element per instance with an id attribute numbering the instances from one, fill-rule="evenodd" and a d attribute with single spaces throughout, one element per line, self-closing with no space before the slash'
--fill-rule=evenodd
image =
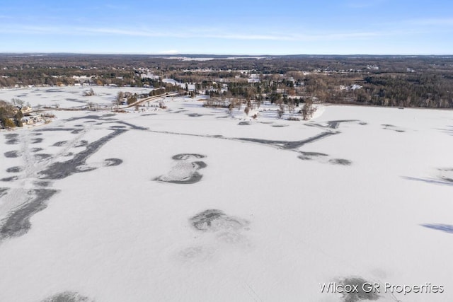
<path id="1" fill-rule="evenodd" d="M 31 227 L 30 217 L 45 209 L 47 207 L 47 200 L 56 192 L 56 190 L 47 189 L 30 190 L 28 194 L 33 195 L 30 201 L 25 202 L 15 209 L 4 220 L 4 224 L 0 228 L 0 240 L 22 236 L 27 233 Z"/>

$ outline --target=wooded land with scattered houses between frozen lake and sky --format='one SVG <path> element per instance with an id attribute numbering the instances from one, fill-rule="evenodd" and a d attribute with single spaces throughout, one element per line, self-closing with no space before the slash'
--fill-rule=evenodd
<path id="1" fill-rule="evenodd" d="M 280 117 L 296 112 L 306 120 L 316 103 L 453 108 L 453 57 L 0 54 L 0 88 L 61 86 L 84 87 L 86 96 L 93 86 L 124 88 L 112 100 L 116 110 L 172 93 L 230 109 L 267 102 Z M 0 127 L 46 122 L 40 109 L 0 97 Z M 87 100 L 86 109 L 96 108 Z"/>

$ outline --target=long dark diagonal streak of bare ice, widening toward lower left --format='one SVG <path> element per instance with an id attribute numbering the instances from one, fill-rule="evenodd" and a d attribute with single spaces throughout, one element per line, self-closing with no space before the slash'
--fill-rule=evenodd
<path id="1" fill-rule="evenodd" d="M 40 171 L 42 179 L 57 180 L 62 178 L 67 178 L 69 175 L 79 172 L 86 172 L 87 170 L 80 170 L 79 166 L 85 165 L 86 159 L 96 153 L 101 146 L 106 144 L 111 139 L 114 139 L 120 134 L 123 134 L 127 130 L 117 129 L 113 133 L 93 141 L 91 144 L 86 146 L 84 151 L 77 153 L 74 158 L 69 161 L 52 163 L 46 170 Z M 94 170 L 96 168 L 89 168 L 88 170 Z"/>

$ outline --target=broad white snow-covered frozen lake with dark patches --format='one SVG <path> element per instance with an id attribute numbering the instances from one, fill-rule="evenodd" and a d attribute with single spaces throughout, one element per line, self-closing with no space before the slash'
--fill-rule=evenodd
<path id="1" fill-rule="evenodd" d="M 0 132 L 0 301 L 453 301 L 452 111 L 165 105 Z"/>

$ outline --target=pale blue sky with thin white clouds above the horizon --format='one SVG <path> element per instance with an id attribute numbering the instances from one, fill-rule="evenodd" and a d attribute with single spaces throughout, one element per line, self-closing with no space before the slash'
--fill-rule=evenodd
<path id="1" fill-rule="evenodd" d="M 453 54 L 451 0 L 2 0 L 0 52 Z"/>

